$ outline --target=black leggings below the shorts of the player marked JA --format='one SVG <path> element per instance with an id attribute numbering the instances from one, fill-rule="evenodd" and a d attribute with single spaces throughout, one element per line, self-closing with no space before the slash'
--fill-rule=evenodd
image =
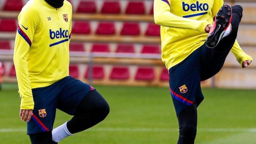
<path id="1" fill-rule="evenodd" d="M 67 128 L 72 134 L 86 130 L 106 118 L 109 106 L 96 90 L 89 92 L 79 104 L 74 117 L 68 121 Z M 30 134 L 32 144 L 56 144 L 52 132 Z"/>

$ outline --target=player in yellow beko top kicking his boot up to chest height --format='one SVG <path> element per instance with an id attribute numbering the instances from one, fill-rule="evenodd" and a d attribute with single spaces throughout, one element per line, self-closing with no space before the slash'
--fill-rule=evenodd
<path id="1" fill-rule="evenodd" d="M 154 0 L 154 20 L 161 26 L 162 60 L 169 70 L 170 94 L 179 122 L 178 144 L 194 144 L 197 107 L 204 99 L 200 82 L 220 71 L 230 50 L 243 68 L 252 62 L 236 41 L 242 7 L 223 3 Z"/>

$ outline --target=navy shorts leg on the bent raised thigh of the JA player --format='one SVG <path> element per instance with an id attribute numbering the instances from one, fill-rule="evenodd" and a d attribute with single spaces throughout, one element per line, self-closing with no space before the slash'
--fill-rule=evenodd
<path id="1" fill-rule="evenodd" d="M 95 89 L 89 84 L 69 76 L 58 97 L 57 108 L 67 114 L 74 115 L 80 102 L 93 90 Z"/>

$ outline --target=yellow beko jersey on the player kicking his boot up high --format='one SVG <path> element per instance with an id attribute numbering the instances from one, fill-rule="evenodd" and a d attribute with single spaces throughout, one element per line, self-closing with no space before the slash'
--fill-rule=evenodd
<path id="1" fill-rule="evenodd" d="M 154 0 L 154 20 L 161 26 L 162 60 L 170 69 L 202 46 L 208 24 L 223 6 L 223 0 Z M 233 54 L 242 65 L 252 60 L 236 41 Z"/>

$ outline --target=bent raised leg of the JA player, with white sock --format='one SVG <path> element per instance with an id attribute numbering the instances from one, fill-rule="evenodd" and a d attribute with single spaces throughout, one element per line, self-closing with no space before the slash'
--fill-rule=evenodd
<path id="1" fill-rule="evenodd" d="M 109 113 L 108 103 L 97 90 L 80 80 L 68 78 L 58 98 L 57 108 L 74 117 L 52 130 L 52 140 L 56 143 L 91 128 Z"/>

